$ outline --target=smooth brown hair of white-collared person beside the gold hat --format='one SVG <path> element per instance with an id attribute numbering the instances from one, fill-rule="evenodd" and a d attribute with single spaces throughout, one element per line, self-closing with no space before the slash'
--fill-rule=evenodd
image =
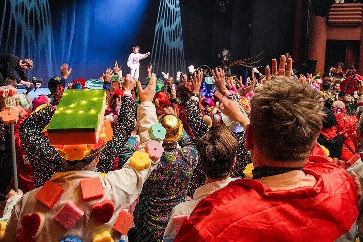
<path id="1" fill-rule="evenodd" d="M 198 152 L 204 175 L 216 179 L 231 172 L 238 141 L 226 126 L 212 126 L 199 140 Z"/>

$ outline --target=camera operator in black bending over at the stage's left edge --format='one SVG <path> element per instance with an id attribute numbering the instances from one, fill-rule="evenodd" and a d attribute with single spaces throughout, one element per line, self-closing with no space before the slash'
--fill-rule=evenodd
<path id="1" fill-rule="evenodd" d="M 33 61 L 30 59 L 21 59 L 11 54 L 0 55 L 0 86 L 4 86 L 4 80 L 9 77 L 16 79 L 17 83 L 30 87 L 32 83 L 29 82 L 24 71 L 33 67 Z"/>

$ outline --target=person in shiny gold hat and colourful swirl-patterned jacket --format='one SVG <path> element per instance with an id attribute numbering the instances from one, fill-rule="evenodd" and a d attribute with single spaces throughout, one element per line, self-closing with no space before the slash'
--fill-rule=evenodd
<path id="1" fill-rule="evenodd" d="M 170 118 L 172 117 L 172 118 Z M 178 121 L 179 124 L 175 124 Z M 188 184 L 198 161 L 198 151 L 174 115 L 159 117 L 167 130 L 160 163 L 145 181 L 134 211 L 137 241 L 161 240 L 174 206 L 186 201 Z M 172 127 L 180 127 L 177 132 Z M 179 129 L 179 128 L 178 128 Z M 175 136 L 178 137 L 175 138 Z M 179 145 L 176 141 L 179 140 Z"/>

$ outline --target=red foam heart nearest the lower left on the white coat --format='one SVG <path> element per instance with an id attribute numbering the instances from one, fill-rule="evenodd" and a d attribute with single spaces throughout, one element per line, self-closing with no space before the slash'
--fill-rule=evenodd
<path id="1" fill-rule="evenodd" d="M 23 232 L 31 238 L 37 237 L 44 227 L 45 215 L 41 212 L 34 212 L 24 215 L 21 221 Z"/>

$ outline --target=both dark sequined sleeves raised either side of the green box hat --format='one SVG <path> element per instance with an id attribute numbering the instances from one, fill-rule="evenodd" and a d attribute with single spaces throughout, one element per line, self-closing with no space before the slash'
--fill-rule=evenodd
<path id="1" fill-rule="evenodd" d="M 55 110 L 55 107 L 49 105 L 34 112 L 19 128 L 24 151 L 33 167 L 35 187 L 42 186 L 54 173 L 64 170 L 60 155 L 53 146 L 49 145 L 48 138 L 41 132 L 50 122 Z M 134 119 L 135 101 L 131 96 L 124 95 L 118 120 L 113 127 L 113 139 L 101 152 L 97 171 L 103 173 L 111 171 L 112 162 L 134 130 Z"/>

